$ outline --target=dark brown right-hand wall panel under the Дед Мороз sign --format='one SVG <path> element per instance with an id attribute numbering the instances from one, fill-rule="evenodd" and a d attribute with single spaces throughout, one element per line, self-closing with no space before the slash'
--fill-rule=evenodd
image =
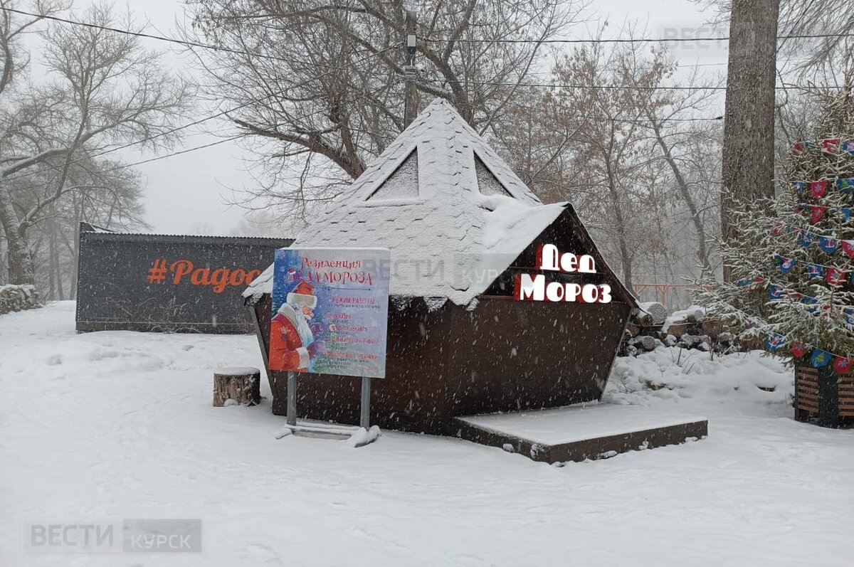
<path id="1" fill-rule="evenodd" d="M 599 400 L 629 306 L 482 298 L 452 308 L 447 333 L 453 416 Z"/>

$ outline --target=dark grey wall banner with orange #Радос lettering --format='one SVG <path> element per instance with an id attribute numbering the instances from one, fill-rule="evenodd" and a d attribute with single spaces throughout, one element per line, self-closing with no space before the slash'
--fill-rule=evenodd
<path id="1" fill-rule="evenodd" d="M 77 330 L 249 333 L 241 293 L 286 238 L 80 229 Z"/>

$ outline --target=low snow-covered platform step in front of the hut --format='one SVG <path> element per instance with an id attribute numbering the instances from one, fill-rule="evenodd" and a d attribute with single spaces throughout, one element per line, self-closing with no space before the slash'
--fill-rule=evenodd
<path id="1" fill-rule="evenodd" d="M 456 418 L 457 435 L 536 461 L 602 459 L 708 435 L 708 420 L 660 408 L 591 403 Z"/>

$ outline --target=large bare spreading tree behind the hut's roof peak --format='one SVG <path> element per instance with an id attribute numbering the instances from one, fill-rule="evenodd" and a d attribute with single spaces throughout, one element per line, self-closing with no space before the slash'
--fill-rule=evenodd
<path id="1" fill-rule="evenodd" d="M 453 102 L 479 131 L 521 100 L 543 56 L 538 40 L 576 19 L 583 0 L 417 0 L 417 91 Z M 364 171 L 403 129 L 401 0 L 201 0 L 190 36 L 225 51 L 200 54 L 208 94 L 257 147 L 264 205 L 304 213 Z M 510 40 L 510 41 L 507 41 Z M 523 40 L 518 43 L 513 40 Z M 299 173 L 301 172 L 301 174 Z"/>

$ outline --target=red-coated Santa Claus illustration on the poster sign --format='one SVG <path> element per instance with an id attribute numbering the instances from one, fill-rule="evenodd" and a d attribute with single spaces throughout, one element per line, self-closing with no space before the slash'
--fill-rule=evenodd
<path id="1" fill-rule="evenodd" d="M 318 298 L 311 284 L 300 282 L 270 322 L 270 368 L 307 371 L 309 360 L 325 352 L 318 340 L 320 324 L 309 324 Z"/>

